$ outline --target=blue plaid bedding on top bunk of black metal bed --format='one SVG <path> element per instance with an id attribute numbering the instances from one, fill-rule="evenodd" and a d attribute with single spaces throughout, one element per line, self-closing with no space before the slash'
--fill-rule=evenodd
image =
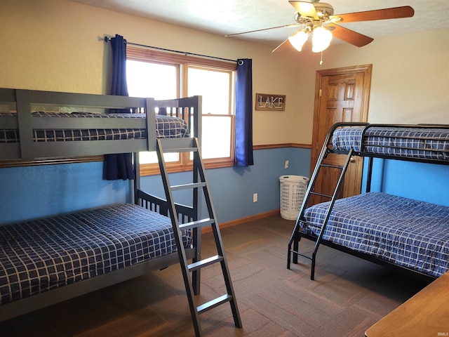
<path id="1" fill-rule="evenodd" d="M 339 128 L 333 134 L 335 150 L 387 154 L 395 157 L 449 160 L 449 129 L 393 128 L 367 129 L 361 148 L 363 128 Z"/>

